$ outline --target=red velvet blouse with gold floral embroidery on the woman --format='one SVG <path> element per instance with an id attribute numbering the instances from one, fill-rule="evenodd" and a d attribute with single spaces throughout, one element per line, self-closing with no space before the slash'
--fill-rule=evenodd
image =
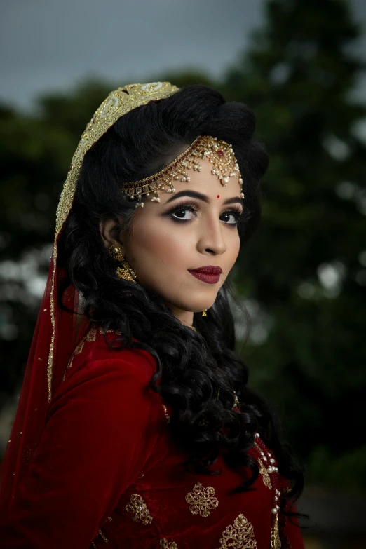
<path id="1" fill-rule="evenodd" d="M 222 454 L 212 466 L 221 475 L 184 470 L 187 454 L 169 436 L 171 410 L 148 387 L 152 355 L 112 351 L 99 330 L 77 351 L 29 476 L 0 519 L 1 548 L 270 548 L 264 473 L 250 492 L 230 494 L 249 472 L 231 470 Z M 288 520 L 285 536 L 287 547 L 304 548 Z"/>

